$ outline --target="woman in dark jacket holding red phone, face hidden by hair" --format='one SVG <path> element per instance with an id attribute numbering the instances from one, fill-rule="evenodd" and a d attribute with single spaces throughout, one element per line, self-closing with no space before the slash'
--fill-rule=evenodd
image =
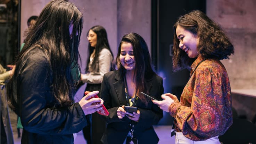
<path id="1" fill-rule="evenodd" d="M 24 127 L 22 144 L 73 144 L 73 134 L 87 124 L 85 115 L 102 109 L 102 99 L 88 100 L 98 91 L 74 102 L 77 77 L 71 69 L 79 68 L 82 26 L 83 15 L 75 5 L 53 0 L 28 32 L 7 83 L 8 104 Z"/>

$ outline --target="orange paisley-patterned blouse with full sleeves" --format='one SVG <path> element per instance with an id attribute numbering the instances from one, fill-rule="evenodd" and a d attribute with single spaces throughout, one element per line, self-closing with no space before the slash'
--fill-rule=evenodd
<path id="1" fill-rule="evenodd" d="M 206 59 L 197 67 L 202 60 L 199 55 L 192 63 L 180 103 L 170 105 L 170 115 L 176 118 L 176 131 L 193 141 L 223 135 L 232 124 L 228 73 L 217 59 Z"/>

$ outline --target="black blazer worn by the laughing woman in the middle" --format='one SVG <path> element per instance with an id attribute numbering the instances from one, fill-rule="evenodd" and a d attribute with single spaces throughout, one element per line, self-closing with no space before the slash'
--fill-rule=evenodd
<path id="1" fill-rule="evenodd" d="M 146 82 L 146 90 L 150 95 L 161 99 L 164 93 L 163 79 L 157 75 L 152 76 Z M 107 129 L 101 138 L 104 144 L 122 144 L 131 129 L 130 120 L 127 117 L 119 119 L 117 109 L 120 105 L 126 105 L 124 79 L 118 71 L 110 71 L 103 77 L 101 84 L 101 99 L 109 111 L 109 115 L 104 117 L 107 121 Z M 156 144 L 159 141 L 152 125 L 157 125 L 163 117 L 163 111 L 151 100 L 148 105 L 143 103 L 139 98 L 136 107 L 140 110 L 139 122 L 134 122 L 133 136 L 138 139 L 138 143 Z"/>

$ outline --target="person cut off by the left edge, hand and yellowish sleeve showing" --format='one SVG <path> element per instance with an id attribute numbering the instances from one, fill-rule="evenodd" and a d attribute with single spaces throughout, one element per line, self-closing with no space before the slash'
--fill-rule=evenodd
<path id="1" fill-rule="evenodd" d="M 9 117 L 8 103 L 5 93 L 5 84 L 8 79 L 13 76 L 15 65 L 7 65 L 11 70 L 7 71 L 0 64 L 0 114 L 1 114 L 1 144 L 14 144 L 13 130 L 11 128 L 11 122 Z"/>

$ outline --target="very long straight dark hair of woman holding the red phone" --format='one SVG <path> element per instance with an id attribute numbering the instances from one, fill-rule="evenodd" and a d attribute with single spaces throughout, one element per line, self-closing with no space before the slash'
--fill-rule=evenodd
<path id="1" fill-rule="evenodd" d="M 74 25 L 72 35 L 69 34 L 71 24 Z M 43 8 L 36 23 L 28 32 L 23 50 L 16 57 L 16 70 L 7 84 L 8 103 L 11 108 L 14 109 L 17 105 L 13 92 L 14 77 L 18 77 L 20 67 L 24 65 L 29 52 L 39 47 L 47 56 L 53 76 L 52 94 L 57 101 L 55 106 L 71 105 L 73 87 L 78 77 L 78 74 L 75 78 L 71 76 L 71 69 L 77 66 L 80 70 L 78 46 L 82 26 L 83 14 L 67 0 L 53 0 Z"/>

